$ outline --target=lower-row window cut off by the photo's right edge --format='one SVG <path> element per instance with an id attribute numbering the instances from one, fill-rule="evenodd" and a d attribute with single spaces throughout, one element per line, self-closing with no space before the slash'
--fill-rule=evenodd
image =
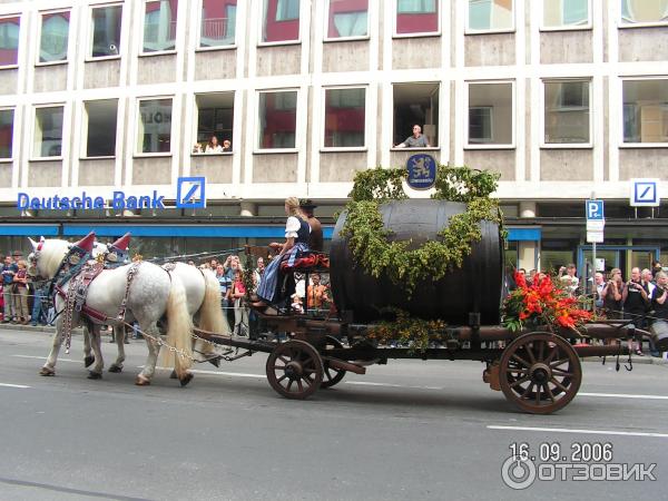
<path id="1" fill-rule="evenodd" d="M 668 79 L 625 80 L 623 141 L 668 143 Z"/>

